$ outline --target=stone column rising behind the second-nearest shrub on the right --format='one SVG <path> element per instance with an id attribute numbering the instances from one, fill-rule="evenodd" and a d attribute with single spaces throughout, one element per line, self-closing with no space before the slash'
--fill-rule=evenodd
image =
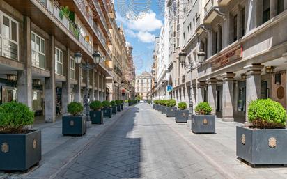
<path id="1" fill-rule="evenodd" d="M 210 107 L 212 107 L 211 114 L 216 113 L 216 86 L 217 86 L 217 79 L 216 78 L 210 78 L 207 80 L 208 84 L 208 103 L 210 104 Z"/>

